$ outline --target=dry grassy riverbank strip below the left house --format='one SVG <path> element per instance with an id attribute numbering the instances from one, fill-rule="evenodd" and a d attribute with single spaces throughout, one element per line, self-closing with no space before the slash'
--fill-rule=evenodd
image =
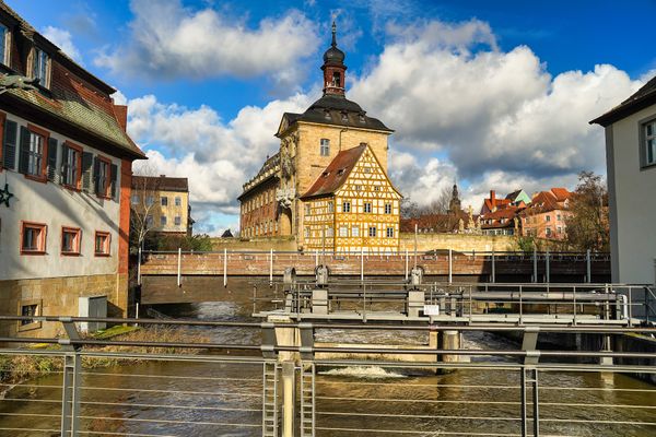
<path id="1" fill-rule="evenodd" d="M 117 326 L 98 331 L 89 338 L 94 340 L 138 341 L 138 342 L 167 342 L 167 343 L 208 343 L 209 339 L 185 327 L 150 326 L 139 328 L 131 326 Z M 59 351 L 59 345 L 36 344 L 30 349 Z M 84 346 L 85 352 L 126 352 L 142 354 L 198 354 L 201 349 L 186 347 L 143 347 L 143 346 Z M 82 357 L 83 368 L 108 367 L 115 365 L 130 365 L 139 363 L 138 358 L 119 359 L 112 357 Z M 13 385 L 37 376 L 61 371 L 63 358 L 61 355 L 0 355 L 0 383 Z"/>

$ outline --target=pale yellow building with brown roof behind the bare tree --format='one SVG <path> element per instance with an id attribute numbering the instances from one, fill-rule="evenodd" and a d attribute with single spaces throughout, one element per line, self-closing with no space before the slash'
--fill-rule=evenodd
<path id="1" fill-rule="evenodd" d="M 148 228 L 160 234 L 191 236 L 194 220 L 187 178 L 132 176 L 132 210 L 147 214 Z"/>

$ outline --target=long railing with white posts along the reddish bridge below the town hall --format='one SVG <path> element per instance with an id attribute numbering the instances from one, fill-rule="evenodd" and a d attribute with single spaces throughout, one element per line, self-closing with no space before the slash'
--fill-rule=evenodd
<path id="1" fill-rule="evenodd" d="M 188 267 L 189 260 L 196 260 L 200 264 Z M 360 274 L 361 277 L 371 274 L 382 274 L 379 269 L 373 273 L 367 263 L 386 263 L 389 269 L 385 274 L 405 275 L 408 277 L 410 269 L 414 265 L 423 267 L 426 273 L 448 275 L 449 282 L 458 268 L 481 268 L 487 271 L 490 282 L 496 282 L 496 271 L 503 265 L 523 265 L 525 274 L 529 274 L 531 281 L 537 283 L 540 279 L 550 282 L 551 274 L 563 267 L 572 269 L 572 265 L 581 265 L 581 274 L 584 282 L 593 282 L 593 264 L 607 265 L 610 274 L 610 255 L 607 252 L 520 252 L 520 251 L 455 251 L 429 250 L 429 251 L 396 251 L 390 253 L 359 252 L 332 252 L 325 250 L 314 251 L 279 251 L 279 250 L 220 250 L 220 251 L 139 251 L 138 256 L 138 282 L 141 276 L 148 274 L 175 274 L 178 286 L 181 285 L 185 274 L 213 274 L 223 275 L 224 283 L 227 276 L 233 274 L 269 275 L 273 280 L 285 268 L 295 267 L 304 274 L 313 272 L 319 264 L 328 264 L 336 271 L 349 270 L 348 274 Z M 244 268 L 244 263 L 248 268 Z M 339 268 L 339 269 L 338 269 Z"/>

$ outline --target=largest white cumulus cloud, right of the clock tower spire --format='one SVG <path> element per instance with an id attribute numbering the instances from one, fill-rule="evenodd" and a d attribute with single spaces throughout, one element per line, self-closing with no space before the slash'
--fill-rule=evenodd
<path id="1" fill-rule="evenodd" d="M 398 156 L 422 162 L 405 169 L 417 175 L 413 185 L 396 172 L 408 192 L 422 192 L 423 163 L 436 154 L 437 168 L 470 185 L 472 203 L 490 188 L 572 187 L 582 169 L 604 173 L 602 131 L 588 121 L 643 82 L 608 64 L 552 76 L 530 48 L 500 50 L 477 20 L 389 31 L 390 43 L 349 94 L 396 129 Z"/>

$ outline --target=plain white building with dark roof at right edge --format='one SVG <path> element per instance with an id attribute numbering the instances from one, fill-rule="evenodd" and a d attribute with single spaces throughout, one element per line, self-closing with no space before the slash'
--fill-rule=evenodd
<path id="1" fill-rule="evenodd" d="M 656 78 L 594 119 L 606 128 L 612 281 L 656 282 Z"/>

